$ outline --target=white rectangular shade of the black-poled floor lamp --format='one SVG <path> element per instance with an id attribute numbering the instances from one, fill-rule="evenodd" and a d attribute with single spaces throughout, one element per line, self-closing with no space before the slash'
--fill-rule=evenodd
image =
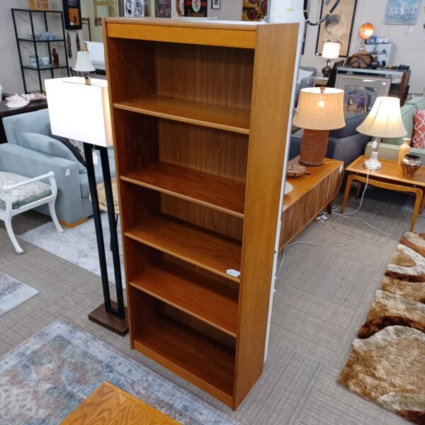
<path id="1" fill-rule="evenodd" d="M 45 80 L 52 135 L 96 146 L 113 144 L 108 81 L 83 77 Z"/>

